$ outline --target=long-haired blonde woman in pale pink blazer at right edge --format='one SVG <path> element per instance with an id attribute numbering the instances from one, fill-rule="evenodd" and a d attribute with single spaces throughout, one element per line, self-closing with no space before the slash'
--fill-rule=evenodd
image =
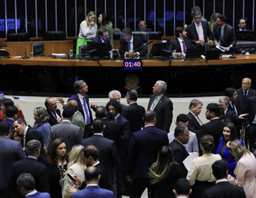
<path id="1" fill-rule="evenodd" d="M 255 197 L 256 159 L 254 155 L 237 140 L 228 142 L 227 148 L 237 160 L 237 166 L 234 169 L 234 174 L 237 175 L 236 183 L 243 187 L 247 198 Z"/>

